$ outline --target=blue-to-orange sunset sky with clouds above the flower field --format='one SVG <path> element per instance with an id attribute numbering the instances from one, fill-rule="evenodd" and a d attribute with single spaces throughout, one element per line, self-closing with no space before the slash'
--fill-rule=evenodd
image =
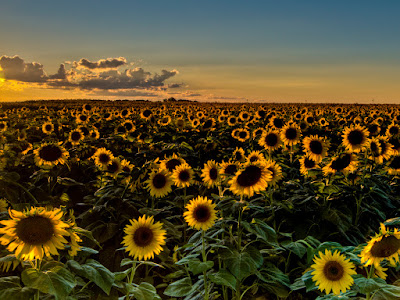
<path id="1" fill-rule="evenodd" d="M 400 104 L 400 2 L 2 1 L 0 101 Z"/>

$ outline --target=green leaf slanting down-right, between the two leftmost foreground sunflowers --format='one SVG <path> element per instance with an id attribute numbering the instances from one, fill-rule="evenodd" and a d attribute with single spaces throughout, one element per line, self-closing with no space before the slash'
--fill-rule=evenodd
<path id="1" fill-rule="evenodd" d="M 115 277 L 114 274 L 102 264 L 94 259 L 89 259 L 84 265 L 80 265 L 75 260 L 69 260 L 67 265 L 79 276 L 93 281 L 107 295 L 110 294 Z"/>

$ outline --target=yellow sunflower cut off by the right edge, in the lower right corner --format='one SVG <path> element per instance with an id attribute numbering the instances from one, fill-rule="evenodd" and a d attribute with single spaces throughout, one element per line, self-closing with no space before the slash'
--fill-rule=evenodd
<path id="1" fill-rule="evenodd" d="M 400 254 L 400 231 L 388 230 L 381 223 L 379 233 L 375 235 L 360 253 L 361 263 L 366 266 L 379 266 L 383 260 L 396 265 Z"/>

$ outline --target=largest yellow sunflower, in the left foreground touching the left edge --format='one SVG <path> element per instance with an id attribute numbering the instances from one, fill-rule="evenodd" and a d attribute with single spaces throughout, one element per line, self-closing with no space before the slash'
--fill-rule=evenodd
<path id="1" fill-rule="evenodd" d="M 64 249 L 70 234 L 69 224 L 61 218 L 64 213 L 59 208 L 46 210 L 32 207 L 24 212 L 9 209 L 11 220 L 0 221 L 0 243 L 14 252 L 18 259 L 43 259 L 43 256 L 59 255 L 57 249 Z"/>

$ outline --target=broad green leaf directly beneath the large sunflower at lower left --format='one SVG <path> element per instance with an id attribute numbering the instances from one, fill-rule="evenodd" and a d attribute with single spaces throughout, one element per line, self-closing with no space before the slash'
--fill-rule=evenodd
<path id="1" fill-rule="evenodd" d="M 54 295 L 56 298 L 65 298 L 76 285 L 74 275 L 60 266 L 46 272 L 26 269 L 22 272 L 21 279 L 27 287 Z"/>

